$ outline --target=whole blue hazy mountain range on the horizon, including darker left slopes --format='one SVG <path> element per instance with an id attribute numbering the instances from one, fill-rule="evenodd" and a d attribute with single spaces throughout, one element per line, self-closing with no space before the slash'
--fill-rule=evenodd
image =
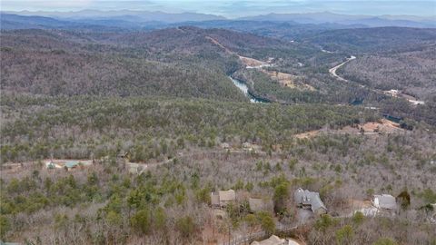
<path id="1" fill-rule="evenodd" d="M 227 19 L 220 15 L 198 13 L 169 14 L 148 11 L 98 11 L 83 10 L 78 12 L 1 12 L 2 29 L 25 28 L 127 28 L 155 29 L 180 23 L 220 21 L 236 23 L 240 21 L 289 23 L 304 25 L 322 25 L 329 28 L 403 26 L 417 28 L 436 28 L 436 17 L 411 15 L 337 15 L 329 12 L 310 14 L 269 14 Z M 219 27 L 219 25 L 217 26 Z"/>

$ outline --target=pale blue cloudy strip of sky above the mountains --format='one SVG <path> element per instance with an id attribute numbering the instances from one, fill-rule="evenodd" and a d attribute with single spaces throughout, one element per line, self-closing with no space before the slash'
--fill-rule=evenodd
<path id="1" fill-rule="evenodd" d="M 436 0 L 1 0 L 3 11 L 148 10 L 237 17 L 329 11 L 349 15 L 436 15 Z"/>

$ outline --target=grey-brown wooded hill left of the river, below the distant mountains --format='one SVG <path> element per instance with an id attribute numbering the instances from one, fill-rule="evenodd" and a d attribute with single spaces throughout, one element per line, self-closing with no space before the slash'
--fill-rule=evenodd
<path id="1" fill-rule="evenodd" d="M 202 43 L 203 49 L 209 48 L 211 54 L 203 57 L 201 44 L 193 46 L 199 48 L 193 54 L 174 50 L 174 54 L 159 55 L 173 47 L 161 45 L 160 51 L 138 47 L 131 51 L 122 44 L 90 39 L 80 34 L 35 30 L 2 34 L 2 89 L 50 95 L 161 94 L 243 100 L 225 76 L 226 70 L 237 67 L 236 60 L 220 54 L 207 40 Z M 150 37 L 144 39 L 150 41 Z"/>

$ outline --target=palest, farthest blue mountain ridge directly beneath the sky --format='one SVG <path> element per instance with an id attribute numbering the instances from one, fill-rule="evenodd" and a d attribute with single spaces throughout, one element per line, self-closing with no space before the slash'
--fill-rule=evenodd
<path id="1" fill-rule="evenodd" d="M 295 22 L 299 24 L 337 24 L 337 25 L 366 25 L 368 27 L 403 26 L 419 28 L 436 28 L 436 16 L 415 15 L 340 15 L 331 12 L 302 13 L 302 14 L 276 14 L 243 16 L 239 18 L 227 18 L 222 15 L 209 15 L 202 13 L 166 13 L 162 11 L 99 11 L 82 10 L 70 12 L 42 12 L 42 11 L 3 11 L 1 15 L 21 16 L 45 16 L 61 21 L 73 21 L 90 23 L 94 21 L 127 21 L 129 25 L 137 23 L 160 22 L 163 24 L 175 24 L 182 22 L 203 21 L 272 21 L 272 22 Z"/>

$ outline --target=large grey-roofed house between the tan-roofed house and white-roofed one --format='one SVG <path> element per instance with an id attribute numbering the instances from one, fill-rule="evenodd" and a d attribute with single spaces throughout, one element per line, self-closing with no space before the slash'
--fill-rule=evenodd
<path id="1" fill-rule="evenodd" d="M 293 198 L 297 206 L 303 209 L 311 209 L 312 212 L 321 215 L 327 213 L 327 208 L 324 206 L 318 192 L 302 190 L 299 188 L 294 192 Z"/>

